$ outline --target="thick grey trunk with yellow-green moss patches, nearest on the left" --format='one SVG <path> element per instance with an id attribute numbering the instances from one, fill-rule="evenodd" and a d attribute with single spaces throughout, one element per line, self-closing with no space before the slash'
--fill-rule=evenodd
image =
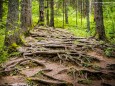
<path id="1" fill-rule="evenodd" d="M 19 44 L 19 0 L 8 1 L 8 15 L 6 22 L 5 45 L 10 46 L 14 43 Z"/>

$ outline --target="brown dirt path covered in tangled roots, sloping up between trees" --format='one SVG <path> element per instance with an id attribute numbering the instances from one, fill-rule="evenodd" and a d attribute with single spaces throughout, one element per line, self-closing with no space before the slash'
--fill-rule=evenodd
<path id="1" fill-rule="evenodd" d="M 0 86 L 115 86 L 114 45 L 75 37 L 63 29 L 35 27 L 0 68 Z"/>

